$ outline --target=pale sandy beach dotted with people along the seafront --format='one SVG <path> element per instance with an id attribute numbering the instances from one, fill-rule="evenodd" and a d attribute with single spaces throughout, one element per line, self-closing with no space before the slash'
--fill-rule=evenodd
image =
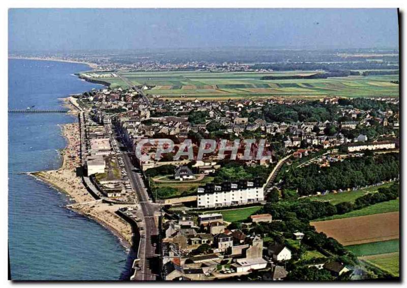
<path id="1" fill-rule="evenodd" d="M 69 98 L 63 100 L 64 106 L 74 109 L 74 106 L 69 103 Z M 71 113 L 77 113 L 77 111 L 71 110 Z M 129 205 L 101 203 L 86 190 L 82 178 L 76 176 L 76 168 L 81 165 L 79 123 L 65 124 L 61 128 L 62 134 L 68 141 L 67 147 L 61 150 L 62 166 L 57 170 L 39 171 L 28 175 L 69 195 L 73 201 L 73 204 L 69 205 L 69 209 L 96 220 L 119 237 L 124 247 L 129 248 L 132 244 L 131 225 L 115 213 L 119 208 Z"/>

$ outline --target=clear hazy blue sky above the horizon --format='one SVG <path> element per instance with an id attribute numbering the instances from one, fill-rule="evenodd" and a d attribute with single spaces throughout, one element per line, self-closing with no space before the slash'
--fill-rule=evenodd
<path id="1" fill-rule="evenodd" d="M 10 9 L 9 49 L 398 47 L 396 9 Z"/>

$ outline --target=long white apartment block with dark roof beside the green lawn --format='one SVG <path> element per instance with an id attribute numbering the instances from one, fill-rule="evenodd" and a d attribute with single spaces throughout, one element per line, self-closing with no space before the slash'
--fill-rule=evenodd
<path id="1" fill-rule="evenodd" d="M 264 188 L 260 179 L 207 183 L 198 188 L 198 208 L 212 208 L 257 203 L 264 200 Z"/>

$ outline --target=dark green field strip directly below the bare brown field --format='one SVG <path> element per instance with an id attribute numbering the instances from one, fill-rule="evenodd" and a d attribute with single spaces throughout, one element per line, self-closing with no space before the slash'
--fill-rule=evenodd
<path id="1" fill-rule="evenodd" d="M 347 250 L 352 251 L 356 256 L 368 256 L 384 254 L 399 251 L 399 240 L 388 240 L 380 242 L 371 242 L 359 245 L 346 246 Z"/>

